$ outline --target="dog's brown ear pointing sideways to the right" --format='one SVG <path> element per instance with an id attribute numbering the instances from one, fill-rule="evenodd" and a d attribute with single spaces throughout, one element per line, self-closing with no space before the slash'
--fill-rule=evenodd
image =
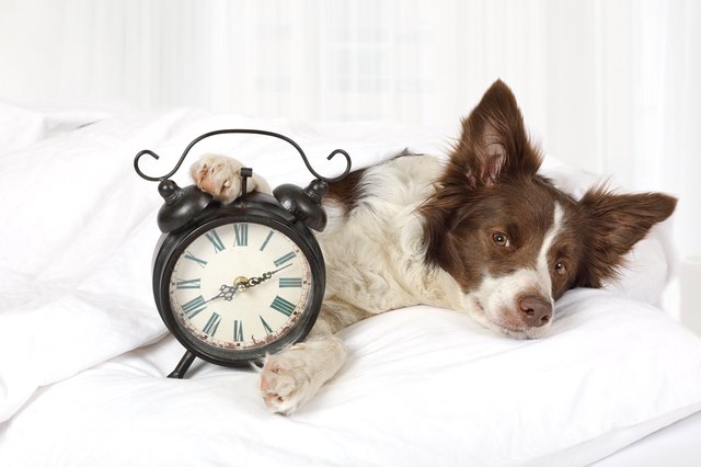
<path id="1" fill-rule="evenodd" d="M 577 204 L 585 259 L 577 286 L 600 287 L 617 277 L 624 255 L 650 229 L 674 213 L 677 198 L 663 193 L 614 194 L 604 186 L 589 190 Z"/>

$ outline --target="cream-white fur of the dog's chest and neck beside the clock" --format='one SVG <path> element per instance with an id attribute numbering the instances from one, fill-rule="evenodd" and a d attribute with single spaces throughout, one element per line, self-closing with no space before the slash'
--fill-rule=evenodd
<path id="1" fill-rule="evenodd" d="M 368 169 L 357 205 L 325 204 L 329 225 L 318 236 L 326 262 L 326 303 L 378 314 L 416 304 L 456 307 L 458 284 L 427 267 L 417 207 L 443 169 L 433 157 L 401 157 Z"/>

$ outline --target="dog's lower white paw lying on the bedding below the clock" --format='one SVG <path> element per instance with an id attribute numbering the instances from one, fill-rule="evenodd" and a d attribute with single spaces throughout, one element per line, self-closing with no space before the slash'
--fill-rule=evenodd
<path id="1" fill-rule="evenodd" d="M 335 338 L 302 342 L 268 355 L 260 383 L 265 405 L 275 413 L 294 413 L 336 374 L 345 360 L 345 346 Z"/>

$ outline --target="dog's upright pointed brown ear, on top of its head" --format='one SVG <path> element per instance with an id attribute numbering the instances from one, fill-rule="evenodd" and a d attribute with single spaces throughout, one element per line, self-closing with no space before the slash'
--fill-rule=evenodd
<path id="1" fill-rule="evenodd" d="M 468 186 L 494 184 L 501 175 L 532 175 L 541 158 L 531 146 L 524 117 L 510 89 L 497 80 L 484 93 L 470 116 L 462 121 L 462 135 L 450 158 L 449 171 Z"/>

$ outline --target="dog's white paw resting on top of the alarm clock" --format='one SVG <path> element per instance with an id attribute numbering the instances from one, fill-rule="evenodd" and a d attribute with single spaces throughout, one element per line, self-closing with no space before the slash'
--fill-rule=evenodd
<path id="1" fill-rule="evenodd" d="M 242 167 L 241 162 L 226 156 L 205 155 L 191 167 L 189 173 L 199 190 L 228 204 L 241 196 Z"/>

